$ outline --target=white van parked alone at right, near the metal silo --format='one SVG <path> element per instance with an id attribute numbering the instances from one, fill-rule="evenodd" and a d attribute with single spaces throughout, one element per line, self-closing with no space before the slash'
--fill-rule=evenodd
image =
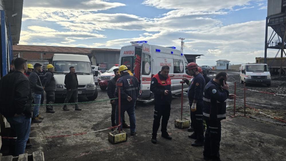
<path id="1" fill-rule="evenodd" d="M 249 63 L 241 64 L 240 82 L 247 84 L 267 84 L 271 86 L 271 75 L 267 64 L 262 63 Z"/>

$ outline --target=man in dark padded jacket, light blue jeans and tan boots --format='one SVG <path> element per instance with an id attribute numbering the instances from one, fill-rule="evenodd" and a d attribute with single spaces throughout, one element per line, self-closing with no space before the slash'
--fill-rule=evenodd
<path id="1" fill-rule="evenodd" d="M 41 104 L 41 97 L 42 93 L 44 92 L 44 88 L 41 84 L 40 77 L 38 73 L 41 71 L 42 65 L 39 63 L 35 63 L 34 70 L 29 75 L 29 79 L 31 82 L 31 91 L 32 96 L 34 98 L 34 110 L 33 110 L 33 116 L 32 116 L 32 123 L 40 123 L 44 119 L 42 116 L 39 115 L 39 108 Z"/>

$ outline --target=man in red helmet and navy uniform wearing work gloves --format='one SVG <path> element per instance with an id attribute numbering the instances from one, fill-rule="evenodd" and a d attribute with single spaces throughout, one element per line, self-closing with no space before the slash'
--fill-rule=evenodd
<path id="1" fill-rule="evenodd" d="M 190 82 L 188 79 L 183 80 L 190 85 L 188 98 L 191 107 L 191 121 L 194 133 L 189 138 L 196 139 L 192 146 L 204 146 L 204 126 L 203 126 L 203 92 L 206 85 L 202 74 L 198 72 L 198 64 L 189 63 L 187 65 L 189 74 L 194 76 Z"/>

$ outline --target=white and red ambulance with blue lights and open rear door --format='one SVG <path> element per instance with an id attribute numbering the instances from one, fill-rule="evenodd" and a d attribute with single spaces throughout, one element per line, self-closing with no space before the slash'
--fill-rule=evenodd
<path id="1" fill-rule="evenodd" d="M 154 94 L 150 91 L 152 77 L 161 71 L 162 66 L 169 66 L 172 94 L 182 92 L 182 78 L 192 79 L 188 75 L 187 59 L 175 47 L 149 45 L 147 41 L 131 41 L 131 45 L 123 46 L 120 51 L 119 64 L 126 65 L 140 83 L 139 99 L 151 99 Z M 189 86 L 184 84 L 184 91 Z"/>

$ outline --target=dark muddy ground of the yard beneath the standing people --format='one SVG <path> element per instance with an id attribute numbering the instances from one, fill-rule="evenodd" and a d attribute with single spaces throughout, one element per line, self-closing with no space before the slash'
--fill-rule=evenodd
<path id="1" fill-rule="evenodd" d="M 243 85 L 238 81 L 239 74 L 229 72 L 228 82 L 233 93 L 234 82 L 237 81 L 236 101 L 237 113 L 243 112 Z M 283 82 L 272 81 L 272 87 Z M 266 91 L 266 85 L 248 87 Z M 98 88 L 99 89 L 99 88 Z M 285 98 L 246 92 L 246 102 L 262 110 L 265 114 L 285 119 Z M 100 91 L 96 100 L 106 99 L 106 91 Z M 158 134 L 157 144 L 151 143 L 153 107 L 152 102 L 139 102 L 135 109 L 137 135 L 130 136 L 127 142 L 112 145 L 108 142 L 108 132 L 111 130 L 89 133 L 80 136 L 31 139 L 33 147 L 26 150 L 32 153 L 42 150 L 45 160 L 203 160 L 203 147 L 192 147 L 194 140 L 188 138 L 191 134 L 186 129 L 174 127 L 174 120 L 180 117 L 180 97 L 174 96 L 171 106 L 171 116 L 168 132 L 173 140 L 161 138 Z M 87 101 L 80 99 L 80 101 Z M 63 100 L 58 101 L 62 103 Z M 229 100 L 227 119 L 222 121 L 222 140 L 220 154 L 222 160 L 286 160 L 286 126 L 253 110 L 246 110 L 247 116 L 233 114 L 233 100 Z M 72 109 L 72 106 L 69 106 Z M 109 101 L 80 105 L 82 111 L 62 111 L 62 106 L 55 106 L 56 113 L 45 113 L 44 106 L 40 113 L 45 117 L 40 124 L 32 124 L 30 137 L 55 136 L 100 130 L 111 125 L 111 106 Z M 184 96 L 184 117 L 189 117 L 188 98 Z M 265 109 L 265 110 L 264 110 Z M 125 115 L 127 122 L 129 117 Z M 256 119 L 254 119 L 256 118 Z"/>

